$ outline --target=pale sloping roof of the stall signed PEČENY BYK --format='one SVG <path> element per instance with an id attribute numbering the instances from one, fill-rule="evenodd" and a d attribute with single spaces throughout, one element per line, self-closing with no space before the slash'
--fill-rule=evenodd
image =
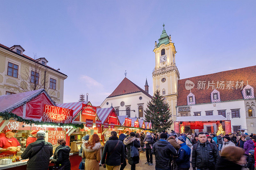
<path id="1" fill-rule="evenodd" d="M 44 89 L 38 89 L 29 92 L 16 93 L 10 95 L 0 96 L 0 112 L 12 111 L 13 109 L 20 107 L 21 105 L 28 103 L 30 100 L 35 99 L 39 94 L 44 93 L 51 101 L 53 106 L 56 106 L 55 102 L 47 94 Z"/>

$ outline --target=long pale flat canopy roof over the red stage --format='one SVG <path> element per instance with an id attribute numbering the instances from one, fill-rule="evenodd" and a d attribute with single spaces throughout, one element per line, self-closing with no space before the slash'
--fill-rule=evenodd
<path id="1" fill-rule="evenodd" d="M 228 119 L 222 115 L 180 116 L 180 117 L 177 117 L 176 122 L 224 121 L 224 120 L 228 120 Z"/>

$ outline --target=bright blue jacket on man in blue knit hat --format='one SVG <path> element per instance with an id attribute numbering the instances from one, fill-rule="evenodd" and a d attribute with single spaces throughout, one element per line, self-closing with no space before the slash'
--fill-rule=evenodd
<path id="1" fill-rule="evenodd" d="M 188 168 L 190 167 L 190 154 L 191 149 L 186 145 L 186 143 L 180 144 L 180 150 L 178 154 L 178 158 L 175 160 L 177 166 L 179 168 Z"/>

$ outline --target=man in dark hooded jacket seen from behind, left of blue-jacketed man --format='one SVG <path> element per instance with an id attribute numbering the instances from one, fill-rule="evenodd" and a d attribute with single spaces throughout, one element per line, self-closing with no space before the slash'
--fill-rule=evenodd
<path id="1" fill-rule="evenodd" d="M 151 153 L 155 155 L 156 170 L 171 169 L 172 156 L 178 155 L 176 149 L 166 140 L 167 134 L 161 133 L 160 140 L 153 144 Z"/>

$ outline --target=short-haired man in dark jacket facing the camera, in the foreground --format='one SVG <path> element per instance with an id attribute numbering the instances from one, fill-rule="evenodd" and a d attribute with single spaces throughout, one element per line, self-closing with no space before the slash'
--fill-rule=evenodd
<path id="1" fill-rule="evenodd" d="M 198 133 L 199 142 L 193 145 L 192 167 L 193 170 L 215 170 L 220 155 L 215 144 L 209 143 L 204 132 Z"/>

